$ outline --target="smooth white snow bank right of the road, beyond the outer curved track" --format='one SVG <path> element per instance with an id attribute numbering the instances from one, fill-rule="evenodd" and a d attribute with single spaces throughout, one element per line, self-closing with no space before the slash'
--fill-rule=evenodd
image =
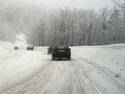
<path id="1" fill-rule="evenodd" d="M 113 79 L 125 86 L 125 44 L 72 47 L 73 55 L 94 66 L 101 66 Z"/>

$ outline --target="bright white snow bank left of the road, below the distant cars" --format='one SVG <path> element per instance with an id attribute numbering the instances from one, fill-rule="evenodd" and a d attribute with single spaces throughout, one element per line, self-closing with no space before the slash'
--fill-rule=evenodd
<path id="1" fill-rule="evenodd" d="M 30 79 L 50 62 L 44 50 L 13 50 L 2 42 L 0 51 L 0 92 Z"/>

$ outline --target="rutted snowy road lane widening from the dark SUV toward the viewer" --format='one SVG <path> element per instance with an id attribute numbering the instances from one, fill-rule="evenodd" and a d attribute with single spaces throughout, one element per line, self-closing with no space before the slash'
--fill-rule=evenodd
<path id="1" fill-rule="evenodd" d="M 3 94 L 101 94 L 72 61 L 50 61 L 33 78 Z"/>

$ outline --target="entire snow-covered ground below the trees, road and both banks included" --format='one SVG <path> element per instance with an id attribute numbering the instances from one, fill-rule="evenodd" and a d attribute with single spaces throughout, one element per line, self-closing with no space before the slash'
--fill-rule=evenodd
<path id="1" fill-rule="evenodd" d="M 71 50 L 71 61 L 52 61 L 47 47 L 0 43 L 0 94 L 125 94 L 125 44 Z"/>

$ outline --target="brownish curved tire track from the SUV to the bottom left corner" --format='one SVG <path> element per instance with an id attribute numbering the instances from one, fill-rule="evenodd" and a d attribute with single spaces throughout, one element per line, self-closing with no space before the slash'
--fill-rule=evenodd
<path id="1" fill-rule="evenodd" d="M 48 62 L 48 64 L 34 77 L 17 85 L 13 88 L 4 91 L 2 94 L 38 94 L 38 92 L 45 86 L 50 80 L 55 65 Z"/>

